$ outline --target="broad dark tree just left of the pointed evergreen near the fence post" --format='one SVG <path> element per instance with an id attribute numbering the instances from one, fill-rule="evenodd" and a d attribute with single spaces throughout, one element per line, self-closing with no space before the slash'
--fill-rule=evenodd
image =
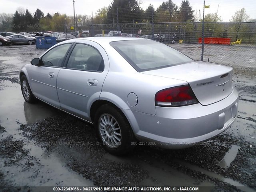
<path id="1" fill-rule="evenodd" d="M 176 6 L 176 4 L 174 2 L 172 2 L 172 0 L 168 0 L 166 2 L 163 2 L 158 8 L 157 8 L 157 12 L 158 12 L 158 17 L 160 20 L 161 14 L 164 16 L 164 18 L 166 17 L 166 11 L 168 11 L 169 13 L 169 21 L 175 21 L 175 17 L 176 17 L 176 13 L 178 10 L 178 6 Z M 166 18 L 165 18 L 166 20 Z M 164 22 L 164 21 L 163 21 Z"/>

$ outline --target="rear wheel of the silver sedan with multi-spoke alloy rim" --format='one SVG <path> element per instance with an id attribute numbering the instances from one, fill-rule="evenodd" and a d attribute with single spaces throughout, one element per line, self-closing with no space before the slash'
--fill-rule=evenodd
<path id="1" fill-rule="evenodd" d="M 106 151 L 115 155 L 130 152 L 135 136 L 122 111 L 110 104 L 104 104 L 96 111 L 94 127 Z"/>

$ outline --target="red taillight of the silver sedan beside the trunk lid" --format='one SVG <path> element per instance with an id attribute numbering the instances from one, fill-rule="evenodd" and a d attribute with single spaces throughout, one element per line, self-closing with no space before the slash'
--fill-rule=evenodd
<path id="1" fill-rule="evenodd" d="M 198 103 L 189 85 L 161 90 L 155 96 L 156 106 L 184 106 Z"/>

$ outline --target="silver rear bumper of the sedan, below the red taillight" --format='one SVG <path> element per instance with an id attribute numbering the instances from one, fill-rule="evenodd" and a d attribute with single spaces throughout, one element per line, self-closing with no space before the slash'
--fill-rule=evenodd
<path id="1" fill-rule="evenodd" d="M 156 115 L 133 111 L 136 120 L 129 122 L 137 130 L 138 140 L 153 141 L 162 148 L 186 148 L 225 131 L 236 119 L 237 110 L 238 93 L 233 90 L 208 106 L 156 107 Z"/>

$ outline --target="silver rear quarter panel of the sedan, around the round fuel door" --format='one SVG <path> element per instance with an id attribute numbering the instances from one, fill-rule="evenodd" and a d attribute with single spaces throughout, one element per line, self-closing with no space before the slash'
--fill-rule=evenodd
<path id="1" fill-rule="evenodd" d="M 100 99 L 108 100 L 121 109 L 136 110 L 146 114 L 156 114 L 155 94 L 172 86 L 188 84 L 182 80 L 159 77 L 137 72 L 114 48 L 108 48 L 109 72 L 102 87 Z M 138 104 L 130 106 L 129 93 L 135 93 Z"/>

